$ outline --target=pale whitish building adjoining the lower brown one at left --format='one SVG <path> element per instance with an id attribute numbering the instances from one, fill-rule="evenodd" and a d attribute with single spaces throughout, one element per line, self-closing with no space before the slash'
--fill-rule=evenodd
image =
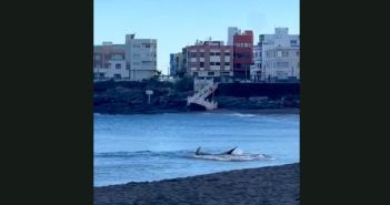
<path id="1" fill-rule="evenodd" d="M 130 80 L 150 79 L 157 71 L 157 40 L 134 39 L 136 34 L 126 35 L 124 59 L 130 70 Z"/>

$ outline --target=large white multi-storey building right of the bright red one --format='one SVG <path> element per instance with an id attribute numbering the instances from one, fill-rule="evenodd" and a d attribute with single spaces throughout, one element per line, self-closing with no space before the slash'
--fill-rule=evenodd
<path id="1" fill-rule="evenodd" d="M 288 28 L 276 28 L 274 34 L 260 34 L 253 55 L 261 80 L 300 79 L 300 39 L 289 34 Z"/>

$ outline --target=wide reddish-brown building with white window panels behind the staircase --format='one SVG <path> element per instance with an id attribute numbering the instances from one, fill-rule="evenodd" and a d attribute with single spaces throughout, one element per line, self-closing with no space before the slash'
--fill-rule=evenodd
<path id="1" fill-rule="evenodd" d="M 224 45 L 223 41 L 197 41 L 186 49 L 186 69 L 196 78 L 231 78 L 232 47 Z"/>

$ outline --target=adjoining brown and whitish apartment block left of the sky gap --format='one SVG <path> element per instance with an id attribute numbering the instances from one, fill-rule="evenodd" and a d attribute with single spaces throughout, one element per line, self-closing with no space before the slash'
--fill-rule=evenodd
<path id="1" fill-rule="evenodd" d="M 157 40 L 127 34 L 124 44 L 103 42 L 93 47 L 94 79 L 141 81 L 157 71 Z"/>

